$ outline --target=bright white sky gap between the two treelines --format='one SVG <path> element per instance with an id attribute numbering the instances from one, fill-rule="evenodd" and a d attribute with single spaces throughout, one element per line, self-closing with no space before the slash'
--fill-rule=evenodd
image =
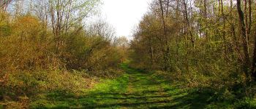
<path id="1" fill-rule="evenodd" d="M 101 13 L 116 28 L 117 36 L 132 39 L 132 30 L 148 10 L 151 0 L 102 0 Z"/>

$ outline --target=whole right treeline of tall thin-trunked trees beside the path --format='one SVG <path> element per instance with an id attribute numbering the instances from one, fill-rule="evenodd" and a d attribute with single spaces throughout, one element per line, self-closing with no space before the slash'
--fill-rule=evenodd
<path id="1" fill-rule="evenodd" d="M 165 71 L 171 75 L 167 78 L 191 87 L 254 96 L 255 4 L 253 0 L 152 1 L 134 32 L 132 66 Z"/>

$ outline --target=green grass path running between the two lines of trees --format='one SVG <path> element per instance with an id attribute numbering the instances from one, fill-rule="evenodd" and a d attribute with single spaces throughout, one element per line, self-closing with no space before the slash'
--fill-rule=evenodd
<path id="1" fill-rule="evenodd" d="M 208 97 L 189 95 L 157 78 L 153 73 L 128 68 L 126 74 L 115 80 L 97 84 L 94 89 L 79 96 L 49 95 L 45 100 L 32 102 L 32 108 L 205 108 Z M 200 102 L 193 104 L 193 101 Z"/>

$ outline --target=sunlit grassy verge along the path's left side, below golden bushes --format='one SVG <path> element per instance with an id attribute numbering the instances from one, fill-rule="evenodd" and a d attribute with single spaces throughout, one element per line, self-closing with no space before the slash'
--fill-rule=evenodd
<path id="1" fill-rule="evenodd" d="M 95 105 L 118 102 L 111 99 L 113 93 L 125 92 L 127 81 L 128 77 L 124 74 L 113 80 L 100 80 L 100 84 L 94 86 L 94 89 L 89 89 L 82 94 L 62 94 L 61 92 L 44 94 L 31 102 L 30 108 L 94 108 Z"/>

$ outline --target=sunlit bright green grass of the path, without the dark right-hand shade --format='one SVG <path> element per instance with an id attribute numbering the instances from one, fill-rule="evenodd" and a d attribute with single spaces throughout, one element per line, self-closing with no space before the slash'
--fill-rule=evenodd
<path id="1" fill-rule="evenodd" d="M 31 108 L 157 108 L 173 104 L 166 88 L 170 87 L 168 82 L 161 83 L 152 78 L 151 73 L 125 64 L 121 67 L 127 72 L 124 76 L 101 80 L 84 94 L 47 94 L 45 100 L 32 102 Z"/>

